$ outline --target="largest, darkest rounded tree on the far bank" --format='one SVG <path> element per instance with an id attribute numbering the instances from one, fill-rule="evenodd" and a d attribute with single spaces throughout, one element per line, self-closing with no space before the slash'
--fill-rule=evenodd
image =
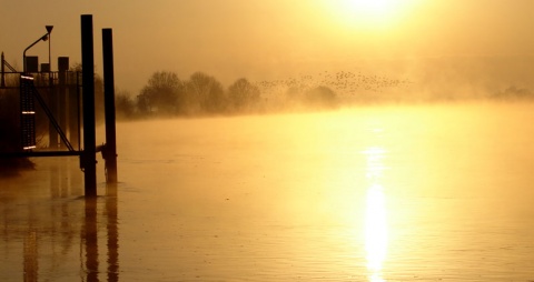
<path id="1" fill-rule="evenodd" d="M 179 111 L 182 104 L 184 83 L 174 72 L 155 72 L 138 97 L 138 107 L 142 113 L 170 114 Z"/>

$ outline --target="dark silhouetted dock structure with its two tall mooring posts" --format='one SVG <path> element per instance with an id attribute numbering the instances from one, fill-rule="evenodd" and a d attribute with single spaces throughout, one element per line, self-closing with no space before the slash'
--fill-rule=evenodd
<path id="1" fill-rule="evenodd" d="M 19 121 L 21 132 L 19 132 L 20 148 L 14 151 L 0 152 L 0 158 L 78 155 L 80 158 L 80 168 L 85 174 L 85 195 L 90 198 L 97 195 L 98 152 L 102 153 L 105 160 L 106 182 L 117 183 L 112 30 L 102 29 L 106 143 L 97 147 L 92 14 L 82 14 L 80 23 L 81 81 L 79 72 L 69 71 L 68 57 L 58 58 L 57 72 L 51 71 L 50 62 L 42 63 L 41 71 L 39 72 L 38 58 L 26 56 L 26 52 L 31 47 L 49 39 L 51 26 L 47 26 L 47 34 L 40 37 L 24 49 L 23 72 L 17 72 L 14 68 L 4 60 L 2 52 L 0 89 L 19 89 Z M 10 72 L 6 72 L 4 67 L 8 67 Z M 8 85 L 6 82 L 7 74 L 18 75 L 19 85 Z M 34 102 L 36 100 L 37 103 Z M 36 144 L 36 104 L 40 105 L 40 109 L 46 113 L 50 123 L 48 150 L 39 150 Z M 82 135 L 81 128 L 83 128 Z M 81 140 L 83 140 L 83 148 L 81 148 Z"/>

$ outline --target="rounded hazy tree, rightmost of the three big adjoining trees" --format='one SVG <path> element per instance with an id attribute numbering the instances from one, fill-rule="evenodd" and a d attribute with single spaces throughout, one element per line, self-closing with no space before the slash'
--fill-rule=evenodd
<path id="1" fill-rule="evenodd" d="M 244 110 L 258 103 L 259 89 L 245 78 L 238 79 L 228 87 L 228 100 L 235 110 Z"/>

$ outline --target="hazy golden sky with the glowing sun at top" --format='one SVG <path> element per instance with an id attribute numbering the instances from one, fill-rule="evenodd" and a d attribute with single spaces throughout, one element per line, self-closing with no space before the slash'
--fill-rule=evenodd
<path id="1" fill-rule="evenodd" d="M 155 71 L 225 85 L 357 66 L 363 60 L 533 57 L 534 0 L 0 0 L 0 51 L 22 51 L 52 24 L 57 57 L 80 62 L 80 14 L 113 29 L 116 84 L 137 94 Z M 48 42 L 29 56 L 48 61 Z"/>

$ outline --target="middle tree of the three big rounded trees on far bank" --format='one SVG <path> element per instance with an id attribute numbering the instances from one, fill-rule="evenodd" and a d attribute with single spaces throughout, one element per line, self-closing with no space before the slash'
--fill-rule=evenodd
<path id="1" fill-rule="evenodd" d="M 204 72 L 195 72 L 186 82 L 189 104 L 207 113 L 221 113 L 226 110 L 222 84 Z"/>

